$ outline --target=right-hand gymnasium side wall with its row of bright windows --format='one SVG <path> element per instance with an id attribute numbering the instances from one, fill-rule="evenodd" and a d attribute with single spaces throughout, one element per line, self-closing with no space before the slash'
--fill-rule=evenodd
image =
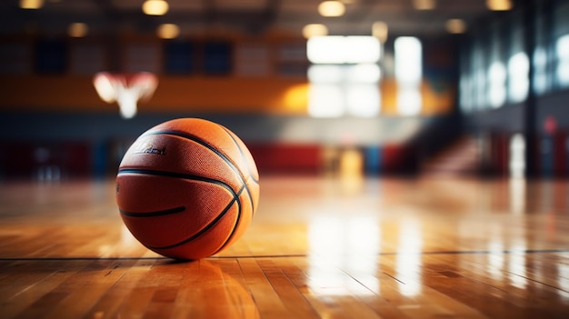
<path id="1" fill-rule="evenodd" d="M 460 104 L 483 166 L 509 174 L 515 144 L 533 175 L 569 176 L 569 2 L 528 1 L 475 25 L 460 52 Z M 525 152 L 525 151 L 523 151 Z"/>

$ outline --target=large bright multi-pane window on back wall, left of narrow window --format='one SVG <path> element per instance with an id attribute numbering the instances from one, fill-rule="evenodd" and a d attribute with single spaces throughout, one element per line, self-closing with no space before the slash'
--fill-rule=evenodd
<path id="1" fill-rule="evenodd" d="M 379 115 L 381 45 L 373 36 L 314 36 L 306 45 L 311 65 L 308 114 L 314 117 Z"/>

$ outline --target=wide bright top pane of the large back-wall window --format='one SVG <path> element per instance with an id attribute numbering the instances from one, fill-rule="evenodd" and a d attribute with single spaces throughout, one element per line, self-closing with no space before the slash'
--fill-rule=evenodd
<path id="1" fill-rule="evenodd" d="M 314 64 L 358 64 L 379 61 L 381 45 L 374 36 L 313 36 L 306 54 Z"/>

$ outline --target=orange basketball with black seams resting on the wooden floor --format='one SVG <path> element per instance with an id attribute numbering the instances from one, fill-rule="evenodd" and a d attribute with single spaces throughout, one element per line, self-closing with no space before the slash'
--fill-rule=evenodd
<path id="1" fill-rule="evenodd" d="M 155 253 L 184 260 L 217 254 L 245 233 L 259 175 L 245 144 L 204 119 L 165 122 L 140 135 L 116 176 L 126 227 Z"/>

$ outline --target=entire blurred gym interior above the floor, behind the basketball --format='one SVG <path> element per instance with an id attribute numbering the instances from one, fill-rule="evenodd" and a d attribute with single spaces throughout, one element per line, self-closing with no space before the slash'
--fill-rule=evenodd
<path id="1" fill-rule="evenodd" d="M 320 2 L 3 1 L 0 180 L 113 176 L 175 117 L 232 129 L 262 175 L 569 174 L 568 1 Z M 158 86 L 124 118 L 100 71 Z"/>

